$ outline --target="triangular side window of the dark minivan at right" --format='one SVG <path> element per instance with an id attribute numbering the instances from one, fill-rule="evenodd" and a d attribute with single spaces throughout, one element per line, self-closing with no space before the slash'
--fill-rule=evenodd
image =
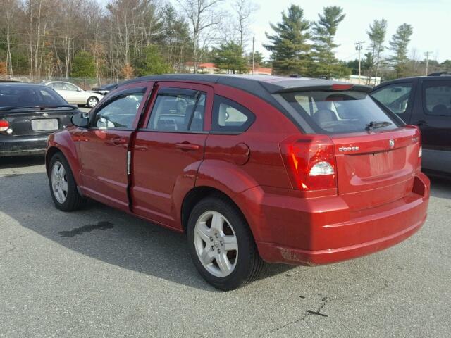
<path id="1" fill-rule="evenodd" d="M 402 118 L 409 104 L 410 92 L 412 92 L 412 83 L 397 83 L 383 87 L 371 93 L 371 96 Z"/>

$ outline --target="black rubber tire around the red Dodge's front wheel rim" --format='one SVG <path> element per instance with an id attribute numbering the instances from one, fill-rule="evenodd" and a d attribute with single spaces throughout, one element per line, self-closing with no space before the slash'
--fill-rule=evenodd
<path id="1" fill-rule="evenodd" d="M 58 199 L 56 199 L 54 189 L 52 187 L 51 173 L 56 163 L 61 163 L 61 165 L 63 165 L 64 171 L 66 172 L 66 175 L 64 177 L 67 181 L 68 189 L 66 194 L 66 201 L 64 201 L 63 203 L 60 203 Z M 86 200 L 78 193 L 77 183 L 75 182 L 75 179 L 73 177 L 72 170 L 70 170 L 70 165 L 63 154 L 56 153 L 51 157 L 48 175 L 51 199 L 53 199 L 56 208 L 61 211 L 75 211 L 84 206 Z"/>

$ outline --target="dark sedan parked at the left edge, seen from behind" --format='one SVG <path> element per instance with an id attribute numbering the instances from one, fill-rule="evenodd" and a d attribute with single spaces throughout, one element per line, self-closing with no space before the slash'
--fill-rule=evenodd
<path id="1" fill-rule="evenodd" d="M 0 157 L 44 154 L 49 134 L 78 112 L 49 87 L 0 83 Z"/>

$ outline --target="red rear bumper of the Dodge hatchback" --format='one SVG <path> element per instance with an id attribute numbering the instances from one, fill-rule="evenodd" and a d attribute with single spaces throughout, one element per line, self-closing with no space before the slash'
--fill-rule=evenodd
<path id="1" fill-rule="evenodd" d="M 381 251 L 424 224 L 428 177 L 417 175 L 412 190 L 400 200 L 354 212 L 340 196 L 286 200 L 264 194 L 259 253 L 270 263 L 321 265 Z"/>

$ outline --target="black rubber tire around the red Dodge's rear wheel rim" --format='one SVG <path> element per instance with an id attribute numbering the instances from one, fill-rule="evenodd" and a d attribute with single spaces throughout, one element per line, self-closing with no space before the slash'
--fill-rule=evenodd
<path id="1" fill-rule="evenodd" d="M 237 263 L 235 269 L 226 277 L 216 277 L 210 273 L 199 259 L 196 246 L 194 244 L 194 228 L 199 217 L 206 211 L 216 211 L 226 217 L 232 225 L 237 238 Z M 264 262 L 261 260 L 254 242 L 254 237 L 249 229 L 249 225 L 240 210 L 225 196 L 214 195 L 207 197 L 194 206 L 190 214 L 187 225 L 187 239 L 192 261 L 204 280 L 217 289 L 224 291 L 237 289 L 255 280 Z"/>

